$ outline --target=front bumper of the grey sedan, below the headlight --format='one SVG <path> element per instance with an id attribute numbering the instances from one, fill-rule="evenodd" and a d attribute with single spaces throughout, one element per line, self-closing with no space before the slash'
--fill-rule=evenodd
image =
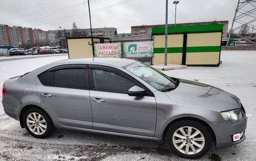
<path id="1" fill-rule="evenodd" d="M 227 148 L 238 144 L 246 139 L 245 134 L 240 136 L 240 140 L 233 141 L 235 134 L 241 134 L 247 126 L 247 117 L 244 116 L 239 121 L 217 121 L 212 122 L 216 136 L 216 149 Z"/>

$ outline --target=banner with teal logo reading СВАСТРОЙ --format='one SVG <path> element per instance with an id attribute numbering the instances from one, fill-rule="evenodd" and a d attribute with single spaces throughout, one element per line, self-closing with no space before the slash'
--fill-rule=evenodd
<path id="1" fill-rule="evenodd" d="M 153 57 L 153 41 L 124 43 L 124 57 Z"/>

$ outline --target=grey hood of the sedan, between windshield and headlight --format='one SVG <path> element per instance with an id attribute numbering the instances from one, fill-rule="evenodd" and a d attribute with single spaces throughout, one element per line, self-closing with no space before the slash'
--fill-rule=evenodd
<path id="1" fill-rule="evenodd" d="M 166 95 L 176 103 L 227 111 L 240 108 L 239 99 L 226 91 L 200 82 L 179 79 L 180 84 Z"/>

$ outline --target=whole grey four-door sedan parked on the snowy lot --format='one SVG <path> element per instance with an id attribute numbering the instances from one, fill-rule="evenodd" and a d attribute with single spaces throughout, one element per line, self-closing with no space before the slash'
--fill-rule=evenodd
<path id="1" fill-rule="evenodd" d="M 168 77 L 132 59 L 68 59 L 3 85 L 4 112 L 34 137 L 56 128 L 166 141 L 199 158 L 245 140 L 239 98 L 211 85 Z"/>

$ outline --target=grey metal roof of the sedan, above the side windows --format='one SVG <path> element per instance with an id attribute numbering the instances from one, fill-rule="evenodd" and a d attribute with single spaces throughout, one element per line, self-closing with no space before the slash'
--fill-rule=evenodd
<path id="1" fill-rule="evenodd" d="M 134 59 L 127 59 L 127 58 L 79 58 L 79 59 L 66 59 L 63 61 L 59 61 L 63 63 L 100 63 L 109 66 L 119 66 L 124 67 L 130 65 L 131 63 L 137 62 Z"/>

